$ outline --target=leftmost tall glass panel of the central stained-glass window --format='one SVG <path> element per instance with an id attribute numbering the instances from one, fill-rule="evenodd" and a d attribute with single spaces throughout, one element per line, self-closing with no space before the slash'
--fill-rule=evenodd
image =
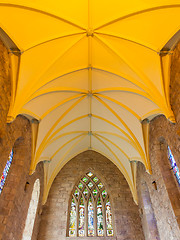
<path id="1" fill-rule="evenodd" d="M 69 236 L 76 236 L 76 204 L 74 199 L 71 201 L 70 222 L 69 222 Z"/>

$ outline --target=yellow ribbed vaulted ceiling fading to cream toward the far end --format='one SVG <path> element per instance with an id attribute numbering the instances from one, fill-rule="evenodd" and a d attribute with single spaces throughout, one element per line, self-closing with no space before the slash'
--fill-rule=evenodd
<path id="1" fill-rule="evenodd" d="M 88 149 L 116 164 L 137 201 L 136 161 L 151 171 L 148 120 L 174 121 L 174 42 L 166 44 L 179 20 L 179 0 L 0 1 L 12 65 L 8 121 L 39 122 L 31 173 L 44 161 L 44 201 L 64 164 Z"/>

